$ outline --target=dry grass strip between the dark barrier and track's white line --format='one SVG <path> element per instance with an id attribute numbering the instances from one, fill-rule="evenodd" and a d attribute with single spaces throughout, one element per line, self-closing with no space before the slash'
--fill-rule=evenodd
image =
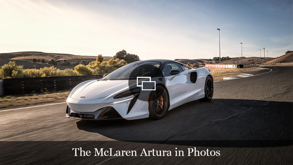
<path id="1" fill-rule="evenodd" d="M 70 91 L 0 97 L 0 110 L 65 102 Z"/>

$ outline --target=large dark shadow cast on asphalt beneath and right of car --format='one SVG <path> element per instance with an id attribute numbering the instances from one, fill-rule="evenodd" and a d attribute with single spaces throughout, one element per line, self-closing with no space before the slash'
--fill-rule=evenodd
<path id="1" fill-rule="evenodd" d="M 193 101 L 161 120 L 79 120 L 78 129 L 119 141 L 198 146 L 292 144 L 292 102 L 240 99 Z"/>

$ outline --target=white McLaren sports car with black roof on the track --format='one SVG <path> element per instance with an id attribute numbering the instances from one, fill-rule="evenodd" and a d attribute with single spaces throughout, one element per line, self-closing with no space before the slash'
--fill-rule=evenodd
<path id="1" fill-rule="evenodd" d="M 161 119 L 177 106 L 210 101 L 214 81 L 206 68 L 193 69 L 173 60 L 129 63 L 103 79 L 78 84 L 66 102 L 66 116 L 84 120 Z"/>

